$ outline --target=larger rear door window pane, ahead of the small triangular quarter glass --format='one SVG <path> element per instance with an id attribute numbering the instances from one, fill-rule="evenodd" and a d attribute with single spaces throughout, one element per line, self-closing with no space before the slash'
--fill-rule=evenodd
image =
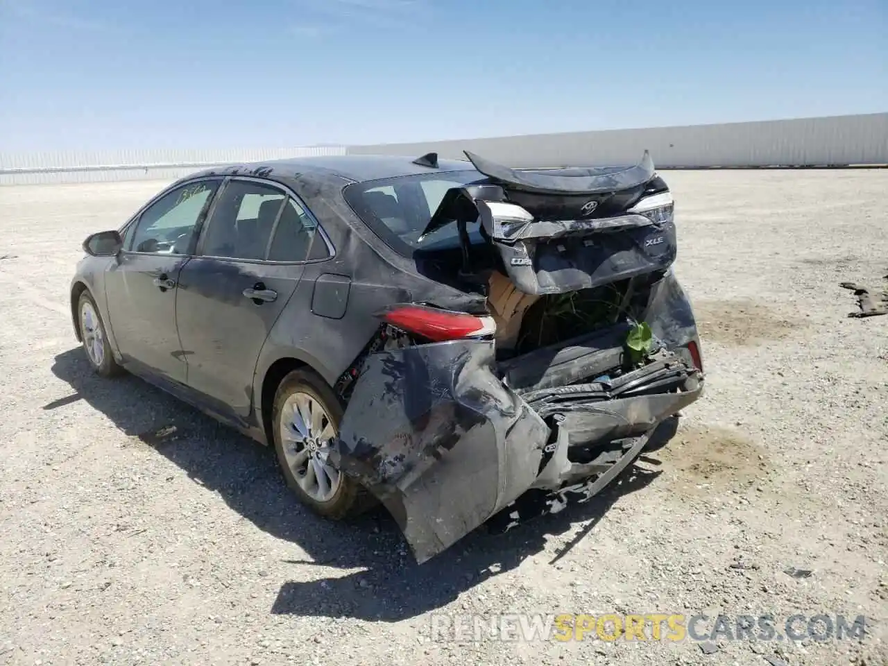
<path id="1" fill-rule="evenodd" d="M 232 180 L 219 194 L 204 234 L 205 257 L 264 259 L 286 195 L 273 186 Z"/>

